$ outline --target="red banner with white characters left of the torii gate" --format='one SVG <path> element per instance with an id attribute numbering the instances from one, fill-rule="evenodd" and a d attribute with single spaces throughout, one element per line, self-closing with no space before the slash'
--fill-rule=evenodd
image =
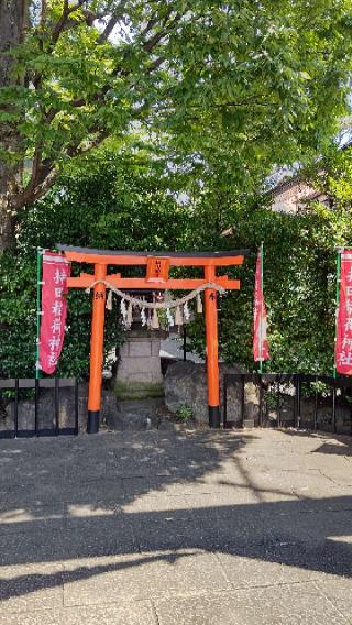
<path id="1" fill-rule="evenodd" d="M 62 353 L 67 315 L 70 264 L 62 254 L 44 252 L 38 366 L 54 373 Z"/>

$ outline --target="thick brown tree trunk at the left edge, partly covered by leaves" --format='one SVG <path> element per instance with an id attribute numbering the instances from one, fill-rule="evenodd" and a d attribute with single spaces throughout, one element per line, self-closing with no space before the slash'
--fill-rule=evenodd
<path id="1" fill-rule="evenodd" d="M 14 59 L 9 52 L 19 45 L 29 23 L 29 0 L 0 0 L 0 89 L 18 85 Z M 0 110 L 10 111 L 11 105 L 1 105 Z M 0 122 L 2 150 L 19 153 L 21 136 L 11 123 Z M 12 200 L 18 193 L 22 163 L 13 164 L 0 158 L 0 255 L 14 242 Z"/>

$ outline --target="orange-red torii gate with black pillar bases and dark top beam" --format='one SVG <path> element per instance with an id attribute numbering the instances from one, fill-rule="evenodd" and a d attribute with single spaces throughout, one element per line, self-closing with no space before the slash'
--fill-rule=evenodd
<path id="1" fill-rule="evenodd" d="M 95 273 L 81 273 L 79 277 L 69 277 L 69 288 L 89 288 L 94 283 L 91 339 L 90 339 L 90 377 L 88 395 L 88 427 L 89 434 L 99 430 L 101 380 L 103 359 L 103 331 L 106 311 L 106 282 L 119 289 L 182 289 L 193 290 L 211 283 L 224 289 L 240 288 L 239 279 L 228 276 L 217 276 L 217 267 L 241 265 L 245 251 L 229 252 L 124 252 L 110 250 L 92 250 L 58 245 L 65 256 L 77 263 L 95 265 Z M 108 265 L 145 265 L 145 277 L 122 277 L 121 273 L 108 274 Z M 202 278 L 172 278 L 168 275 L 170 266 L 195 266 L 204 268 Z M 217 290 L 205 289 L 206 335 L 207 335 L 207 379 L 209 426 L 220 427 L 220 386 L 218 357 L 218 306 Z"/>

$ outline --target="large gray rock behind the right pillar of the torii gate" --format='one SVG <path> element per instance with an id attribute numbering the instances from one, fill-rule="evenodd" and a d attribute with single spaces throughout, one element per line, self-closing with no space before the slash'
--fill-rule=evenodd
<path id="1" fill-rule="evenodd" d="M 230 366 L 220 364 L 220 395 L 223 396 L 223 377 L 226 373 L 244 373 L 241 366 Z M 253 385 L 254 386 L 254 385 Z M 253 417 L 254 405 L 258 406 L 258 391 L 254 393 L 252 388 L 250 399 L 251 415 L 244 420 Z M 207 372 L 205 364 L 194 362 L 175 362 L 167 369 L 165 375 L 165 405 L 168 410 L 176 413 L 177 409 L 187 405 L 193 409 L 193 415 L 197 421 L 208 423 L 208 394 L 207 394 Z M 242 385 L 241 383 L 228 387 L 228 420 L 235 426 L 242 425 Z M 246 425 L 252 425 L 246 423 Z"/>

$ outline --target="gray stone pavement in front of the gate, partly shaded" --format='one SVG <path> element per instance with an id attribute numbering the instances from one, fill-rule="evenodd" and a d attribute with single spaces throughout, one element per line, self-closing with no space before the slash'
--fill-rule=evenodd
<path id="1" fill-rule="evenodd" d="M 352 624 L 352 439 L 0 442 L 0 625 Z"/>

